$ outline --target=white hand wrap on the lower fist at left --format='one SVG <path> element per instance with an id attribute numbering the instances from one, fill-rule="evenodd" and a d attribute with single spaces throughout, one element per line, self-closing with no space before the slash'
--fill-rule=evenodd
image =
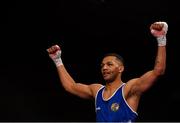
<path id="1" fill-rule="evenodd" d="M 56 54 L 52 57 L 54 63 L 56 64 L 56 67 L 63 65 L 62 59 L 61 59 L 61 50 L 58 50 Z"/>

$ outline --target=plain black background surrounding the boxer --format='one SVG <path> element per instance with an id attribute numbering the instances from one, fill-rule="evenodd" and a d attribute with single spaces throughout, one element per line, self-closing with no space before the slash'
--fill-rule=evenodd
<path id="1" fill-rule="evenodd" d="M 166 21 L 167 69 L 141 98 L 137 121 L 180 121 L 178 4 L 170 1 L 6 1 L 1 22 L 0 121 L 95 121 L 94 101 L 67 93 L 46 49 L 58 44 L 77 82 L 101 82 L 108 52 L 125 59 L 123 81 L 153 68 L 149 32 Z"/>

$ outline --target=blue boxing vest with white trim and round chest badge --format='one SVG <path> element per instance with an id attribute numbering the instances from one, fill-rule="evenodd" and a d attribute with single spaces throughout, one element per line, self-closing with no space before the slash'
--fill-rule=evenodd
<path id="1" fill-rule="evenodd" d="M 103 99 L 105 86 L 101 87 L 95 98 L 97 122 L 134 122 L 137 113 L 124 98 L 123 83 L 107 100 Z"/>

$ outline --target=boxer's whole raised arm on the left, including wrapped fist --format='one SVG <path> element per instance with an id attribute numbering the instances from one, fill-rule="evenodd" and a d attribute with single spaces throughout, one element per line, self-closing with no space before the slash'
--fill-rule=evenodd
<path id="1" fill-rule="evenodd" d="M 63 65 L 61 59 L 61 49 L 58 45 L 48 48 L 47 52 L 57 67 L 60 82 L 66 91 L 85 99 L 95 97 L 97 90 L 101 87 L 100 84 L 86 85 L 76 83 Z"/>

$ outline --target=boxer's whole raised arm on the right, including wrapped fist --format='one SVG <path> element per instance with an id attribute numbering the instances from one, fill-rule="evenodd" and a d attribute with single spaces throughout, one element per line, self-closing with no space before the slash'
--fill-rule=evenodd
<path id="1" fill-rule="evenodd" d="M 168 25 L 166 22 L 155 22 L 150 26 L 151 34 L 157 39 L 158 49 L 154 68 L 141 77 L 128 82 L 127 91 L 130 95 L 142 94 L 148 90 L 153 83 L 164 74 L 166 68 L 166 34 Z"/>

